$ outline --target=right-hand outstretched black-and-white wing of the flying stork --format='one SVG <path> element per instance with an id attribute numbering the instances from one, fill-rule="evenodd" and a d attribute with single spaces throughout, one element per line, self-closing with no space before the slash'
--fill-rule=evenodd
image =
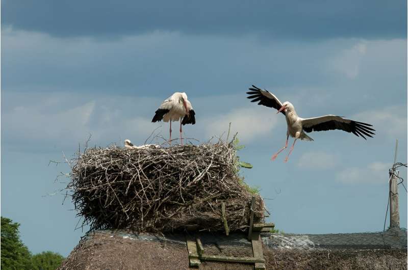
<path id="1" fill-rule="evenodd" d="M 367 139 L 364 136 L 372 138 L 371 135 L 375 134 L 374 132 L 372 132 L 375 131 L 375 129 L 372 129 L 370 127 L 372 125 L 345 119 L 341 116 L 325 115 L 320 117 L 302 119 L 301 121 L 303 130 L 306 132 L 340 129 L 351 132 L 357 137 L 361 136 L 365 140 Z"/>

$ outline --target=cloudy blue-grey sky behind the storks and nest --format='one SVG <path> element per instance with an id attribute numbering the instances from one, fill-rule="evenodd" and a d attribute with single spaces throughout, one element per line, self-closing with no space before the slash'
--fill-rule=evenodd
<path id="1" fill-rule="evenodd" d="M 277 229 L 384 228 L 396 139 L 397 160 L 407 158 L 406 1 L 1 5 L 1 214 L 21 224 L 33 253 L 67 256 L 87 230 L 75 230 L 81 220 L 69 198 L 63 203 L 69 179 L 56 179 L 69 166 L 49 161 L 72 158 L 90 135 L 101 147 L 143 144 L 156 128 L 167 138 L 168 123 L 151 118 L 176 91 L 196 112 L 185 137 L 207 142 L 232 123 L 245 145 L 238 155 L 253 165 L 241 173 L 260 188 Z M 252 84 L 303 118 L 341 115 L 373 124 L 376 135 L 312 132 L 288 163 L 288 151 L 271 161 L 286 121 L 249 102 Z M 406 228 L 401 185 L 399 192 Z"/>

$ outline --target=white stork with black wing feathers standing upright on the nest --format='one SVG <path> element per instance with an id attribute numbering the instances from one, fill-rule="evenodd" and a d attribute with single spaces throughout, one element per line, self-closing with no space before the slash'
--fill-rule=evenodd
<path id="1" fill-rule="evenodd" d="M 182 120 L 183 118 L 183 120 Z M 151 122 L 163 120 L 170 121 L 170 137 L 169 144 L 171 144 L 171 121 L 179 121 L 180 119 L 180 142 L 183 144 L 182 138 L 182 124 L 195 124 L 195 112 L 191 106 L 190 101 L 187 100 L 186 93 L 175 92 L 167 98 L 157 109 L 155 116 Z"/>

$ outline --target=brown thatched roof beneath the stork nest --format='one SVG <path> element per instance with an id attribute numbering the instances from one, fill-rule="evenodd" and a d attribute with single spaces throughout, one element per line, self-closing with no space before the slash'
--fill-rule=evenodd
<path id="1" fill-rule="evenodd" d="M 234 235 L 228 236 L 236 239 Z M 144 239 L 144 240 L 140 240 Z M 90 234 L 63 262 L 60 269 L 188 269 L 182 238 L 158 241 L 153 235 L 135 236 L 119 231 Z M 213 239 L 213 240 L 211 240 Z M 214 245 L 217 235 L 207 233 L 206 252 L 251 256 L 250 245 L 232 240 Z M 245 236 L 243 236 L 245 239 Z M 267 269 L 406 269 L 406 249 L 382 250 L 271 250 L 263 247 Z M 202 262 L 200 269 L 253 269 L 253 264 Z"/>

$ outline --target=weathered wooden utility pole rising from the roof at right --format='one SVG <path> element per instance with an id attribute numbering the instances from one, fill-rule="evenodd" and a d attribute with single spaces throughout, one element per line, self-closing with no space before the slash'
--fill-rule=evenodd
<path id="1" fill-rule="evenodd" d="M 395 143 L 394 164 L 397 163 L 397 151 L 398 139 Z M 399 229 L 398 172 L 394 169 L 390 170 L 390 229 Z"/>

